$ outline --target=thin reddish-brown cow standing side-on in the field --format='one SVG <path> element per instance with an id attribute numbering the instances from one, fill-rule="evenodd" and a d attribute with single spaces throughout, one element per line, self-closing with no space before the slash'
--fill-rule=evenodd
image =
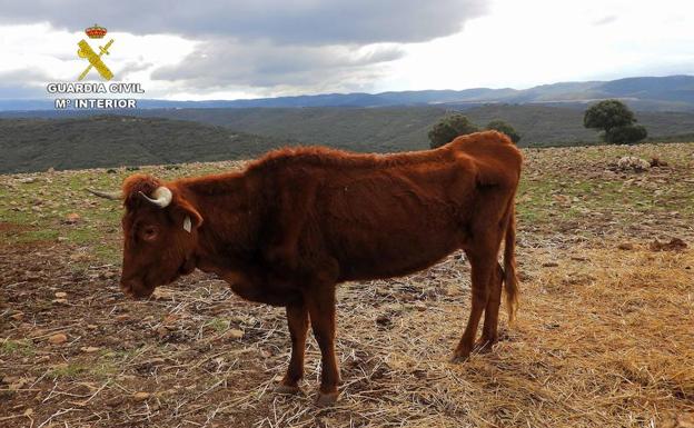
<path id="1" fill-rule="evenodd" d="M 475 348 L 483 311 L 477 347 L 497 340 L 502 282 L 510 320 L 517 306 L 514 195 L 520 163 L 506 136 L 487 131 L 419 152 L 296 148 L 270 152 L 241 172 L 169 182 L 131 176 L 120 193 L 121 288 L 148 297 L 198 268 L 245 299 L 286 307 L 291 358 L 278 389 L 299 389 L 310 322 L 323 362 L 318 402 L 329 405 L 339 384 L 338 282 L 408 275 L 463 249 L 472 265 L 473 303 L 454 360 Z"/>

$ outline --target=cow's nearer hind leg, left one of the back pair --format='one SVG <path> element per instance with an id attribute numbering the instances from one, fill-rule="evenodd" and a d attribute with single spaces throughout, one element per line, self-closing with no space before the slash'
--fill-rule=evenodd
<path id="1" fill-rule="evenodd" d="M 480 240 L 478 245 L 465 249 L 472 267 L 473 303 L 467 327 L 453 354 L 454 362 L 466 360 L 473 351 L 479 319 L 489 301 L 492 278 L 498 265 L 496 258 L 499 242 L 494 237 L 487 238 Z"/>

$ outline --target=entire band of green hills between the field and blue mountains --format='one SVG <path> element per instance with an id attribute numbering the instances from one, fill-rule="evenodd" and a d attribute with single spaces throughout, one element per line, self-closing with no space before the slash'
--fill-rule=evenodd
<path id="1" fill-rule="evenodd" d="M 354 151 L 428 148 L 427 132 L 443 107 L 152 109 L 133 116 L 0 119 L 0 173 L 247 159 L 287 145 Z M 478 126 L 512 123 L 520 147 L 598 142 L 583 111 L 537 104 L 487 104 L 465 110 Z M 694 113 L 640 112 L 651 140 L 684 141 Z M 684 137 L 687 135 L 686 137 Z M 683 136 L 683 137 L 677 137 Z"/>

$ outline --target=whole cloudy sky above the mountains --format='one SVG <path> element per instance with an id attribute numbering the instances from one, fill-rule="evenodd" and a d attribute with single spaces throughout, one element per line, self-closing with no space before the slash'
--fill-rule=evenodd
<path id="1" fill-rule="evenodd" d="M 0 99 L 76 81 L 95 22 L 115 81 L 199 100 L 694 74 L 692 17 L 692 0 L 0 0 Z"/>

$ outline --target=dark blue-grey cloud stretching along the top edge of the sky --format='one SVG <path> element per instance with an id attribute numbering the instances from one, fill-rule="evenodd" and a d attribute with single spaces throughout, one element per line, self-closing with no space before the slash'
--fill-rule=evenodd
<path id="1" fill-rule="evenodd" d="M 274 44 L 414 42 L 448 36 L 489 0 L 0 0 L 0 22 L 79 31 L 97 20 L 136 34 L 231 37 Z"/>

